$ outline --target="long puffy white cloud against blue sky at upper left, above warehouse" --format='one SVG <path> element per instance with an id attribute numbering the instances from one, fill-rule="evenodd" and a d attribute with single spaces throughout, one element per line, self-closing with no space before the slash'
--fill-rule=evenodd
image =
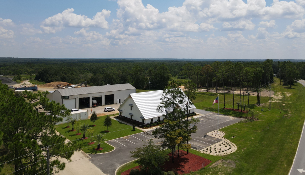
<path id="1" fill-rule="evenodd" d="M 40 27 L 44 33 L 55 33 L 61 31 L 65 27 L 99 27 L 108 29 L 108 22 L 106 18 L 110 17 L 109 10 L 102 10 L 90 19 L 85 15 L 77 15 L 73 8 L 68 8 L 62 13 L 58 13 L 52 17 L 45 19 Z"/>

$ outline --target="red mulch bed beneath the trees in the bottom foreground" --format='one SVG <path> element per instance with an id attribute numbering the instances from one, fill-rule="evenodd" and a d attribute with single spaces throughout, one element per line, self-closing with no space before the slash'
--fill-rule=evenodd
<path id="1" fill-rule="evenodd" d="M 209 163 L 212 161 L 205 159 L 203 157 L 197 156 L 195 154 L 189 153 L 186 154 L 186 151 L 180 150 L 180 156 L 177 157 L 178 151 L 175 152 L 174 154 L 174 162 L 172 163 L 172 153 L 168 154 L 169 155 L 169 160 L 165 162 L 163 166 L 163 171 L 168 172 L 168 171 L 175 171 L 178 174 L 186 174 L 189 173 L 190 171 L 197 171 L 203 167 L 201 167 L 201 163 L 204 162 L 204 165 L 207 166 Z M 139 166 L 134 167 L 134 168 L 139 168 Z M 129 175 L 129 172 L 134 169 L 131 168 L 125 172 L 122 172 L 121 175 Z"/>

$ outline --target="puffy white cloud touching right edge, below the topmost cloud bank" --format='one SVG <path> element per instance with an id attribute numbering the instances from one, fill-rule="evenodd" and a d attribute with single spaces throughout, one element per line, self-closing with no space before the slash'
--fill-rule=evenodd
<path id="1" fill-rule="evenodd" d="M 293 21 L 291 25 L 287 26 L 282 35 L 286 38 L 305 37 L 305 19 Z"/>

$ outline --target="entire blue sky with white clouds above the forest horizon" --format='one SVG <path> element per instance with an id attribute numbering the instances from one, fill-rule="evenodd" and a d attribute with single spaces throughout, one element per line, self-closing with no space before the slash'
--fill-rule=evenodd
<path id="1" fill-rule="evenodd" d="M 3 1 L 0 57 L 304 59 L 305 0 Z"/>

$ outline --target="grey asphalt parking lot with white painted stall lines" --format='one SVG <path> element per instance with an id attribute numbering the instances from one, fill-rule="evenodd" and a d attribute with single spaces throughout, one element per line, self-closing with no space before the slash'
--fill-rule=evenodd
<path id="1" fill-rule="evenodd" d="M 189 141 L 192 148 L 199 151 L 222 141 L 221 139 L 206 135 L 211 131 L 217 130 L 217 113 L 199 109 L 196 109 L 195 112 L 200 115 L 198 116 L 198 131 L 197 133 L 192 134 L 193 139 Z M 220 114 L 218 121 L 219 129 L 237 123 L 240 120 L 242 119 Z M 151 132 L 152 130 L 106 141 L 116 149 L 104 154 L 90 154 L 92 157 L 90 162 L 101 169 L 105 174 L 113 175 L 118 167 L 134 160 L 134 158 L 130 157 L 130 151 L 135 150 L 137 147 L 141 147 L 144 144 L 143 141 L 147 143 L 152 139 Z M 153 139 L 153 141 L 155 143 L 160 142 L 159 139 Z"/>

